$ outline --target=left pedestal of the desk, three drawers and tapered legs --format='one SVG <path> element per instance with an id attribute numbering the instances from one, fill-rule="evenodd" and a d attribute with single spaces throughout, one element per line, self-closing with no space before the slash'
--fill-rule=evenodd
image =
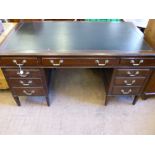
<path id="1" fill-rule="evenodd" d="M 23 75 L 29 73 L 26 77 L 17 75 L 18 69 L 3 68 L 3 71 L 18 106 L 21 105 L 18 96 L 45 96 L 47 105 L 50 106 L 48 98 L 48 70 L 41 68 L 24 69 Z"/>

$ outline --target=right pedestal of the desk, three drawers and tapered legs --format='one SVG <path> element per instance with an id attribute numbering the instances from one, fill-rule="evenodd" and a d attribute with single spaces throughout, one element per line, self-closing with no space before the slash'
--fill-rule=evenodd
<path id="1" fill-rule="evenodd" d="M 106 69 L 107 70 L 107 69 Z M 134 76 L 129 76 L 130 75 Z M 137 74 L 138 71 L 138 74 Z M 109 74 L 110 73 L 110 74 Z M 135 74 L 136 73 L 136 74 Z M 149 69 L 110 69 L 104 71 L 104 79 L 106 88 L 105 105 L 108 103 L 109 96 L 115 95 L 133 95 L 134 100 L 132 104 L 135 104 L 137 97 L 142 94 L 143 88 L 150 76 L 151 71 Z M 135 75 L 137 77 L 135 77 Z M 105 78 L 106 77 L 106 78 Z"/>

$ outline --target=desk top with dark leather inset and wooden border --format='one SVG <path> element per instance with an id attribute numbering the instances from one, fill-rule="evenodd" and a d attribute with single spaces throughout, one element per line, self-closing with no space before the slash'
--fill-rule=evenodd
<path id="1" fill-rule="evenodd" d="M 22 23 L 0 55 L 143 55 L 155 52 L 132 23 Z"/>

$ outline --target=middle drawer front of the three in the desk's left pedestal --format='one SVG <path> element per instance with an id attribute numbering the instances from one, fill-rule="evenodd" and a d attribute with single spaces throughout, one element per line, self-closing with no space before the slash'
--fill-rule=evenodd
<path id="1" fill-rule="evenodd" d="M 41 79 L 9 79 L 11 87 L 42 87 Z"/>

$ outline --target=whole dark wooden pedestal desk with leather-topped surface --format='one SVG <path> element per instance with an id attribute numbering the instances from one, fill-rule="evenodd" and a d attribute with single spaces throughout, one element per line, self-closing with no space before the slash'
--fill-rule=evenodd
<path id="1" fill-rule="evenodd" d="M 155 68 L 155 51 L 131 23 L 20 23 L 0 46 L 0 66 L 12 95 L 45 96 L 48 70 L 103 68 L 106 100 L 145 95 Z"/>

